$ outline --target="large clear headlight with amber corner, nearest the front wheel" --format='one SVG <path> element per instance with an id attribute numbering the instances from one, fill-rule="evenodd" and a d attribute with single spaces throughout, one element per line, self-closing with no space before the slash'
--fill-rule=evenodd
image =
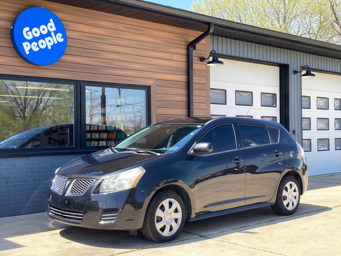
<path id="1" fill-rule="evenodd" d="M 100 193 L 130 189 L 136 186 L 146 172 L 141 166 L 107 177 L 102 182 Z"/>

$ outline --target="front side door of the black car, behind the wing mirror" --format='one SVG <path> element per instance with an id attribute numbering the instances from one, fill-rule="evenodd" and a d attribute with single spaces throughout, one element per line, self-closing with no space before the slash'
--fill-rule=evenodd
<path id="1" fill-rule="evenodd" d="M 235 125 L 218 124 L 197 140 L 201 142 L 212 143 L 213 151 L 190 156 L 196 214 L 245 205 L 244 162 Z"/>

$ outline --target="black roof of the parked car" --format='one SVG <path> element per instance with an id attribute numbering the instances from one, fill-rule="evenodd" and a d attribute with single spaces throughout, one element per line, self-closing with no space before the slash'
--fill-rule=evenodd
<path id="1" fill-rule="evenodd" d="M 251 124 L 262 124 L 262 125 L 275 126 L 275 127 L 280 126 L 279 123 L 276 123 L 273 121 L 255 119 L 255 118 L 246 118 L 246 117 L 235 117 L 235 116 L 179 117 L 179 118 L 165 119 L 163 121 L 158 122 L 158 124 L 202 124 L 202 125 L 206 125 L 208 123 L 216 124 L 220 122 L 242 122 L 242 123 L 251 123 Z"/>

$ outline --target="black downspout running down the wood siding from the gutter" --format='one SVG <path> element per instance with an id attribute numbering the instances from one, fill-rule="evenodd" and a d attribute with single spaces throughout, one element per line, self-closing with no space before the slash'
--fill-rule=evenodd
<path id="1" fill-rule="evenodd" d="M 206 32 L 199 35 L 187 46 L 187 79 L 188 79 L 188 116 L 194 117 L 194 99 L 193 99 L 193 49 L 195 45 L 213 32 L 213 23 L 208 24 Z M 206 56 L 205 56 L 206 57 Z"/>

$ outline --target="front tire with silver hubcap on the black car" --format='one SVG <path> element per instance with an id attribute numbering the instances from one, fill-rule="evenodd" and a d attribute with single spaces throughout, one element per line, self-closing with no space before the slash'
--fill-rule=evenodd
<path id="1" fill-rule="evenodd" d="M 167 202 L 168 211 L 165 206 Z M 141 231 L 149 240 L 159 243 L 169 242 L 180 234 L 185 219 L 186 209 L 181 197 L 174 191 L 161 190 L 149 202 Z"/>

